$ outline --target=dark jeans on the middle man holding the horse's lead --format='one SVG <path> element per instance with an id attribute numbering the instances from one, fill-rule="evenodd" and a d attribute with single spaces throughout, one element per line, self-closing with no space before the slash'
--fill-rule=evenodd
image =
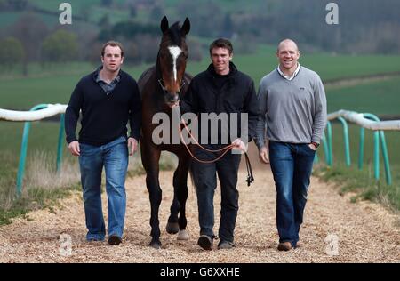
<path id="1" fill-rule="evenodd" d="M 208 147 L 216 149 L 215 146 Z M 219 147 L 218 147 L 219 148 Z M 195 155 L 202 160 L 215 159 L 220 154 L 213 154 L 195 149 Z M 236 189 L 237 171 L 241 155 L 230 151 L 219 161 L 212 164 L 199 163 L 193 160 L 191 169 L 196 186 L 198 221 L 200 235 L 214 237 L 214 191 L 217 188 L 217 178 L 220 179 L 220 229 L 219 237 L 223 241 L 234 241 L 237 210 L 239 209 L 239 192 Z"/>

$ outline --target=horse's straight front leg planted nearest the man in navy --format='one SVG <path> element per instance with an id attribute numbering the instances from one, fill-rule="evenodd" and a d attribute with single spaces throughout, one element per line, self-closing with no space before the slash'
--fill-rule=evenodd
<path id="1" fill-rule="evenodd" d="M 146 186 L 148 188 L 148 195 L 150 198 L 151 216 L 150 226 L 151 242 L 150 246 L 159 249 L 160 242 L 160 221 L 158 221 L 158 210 L 162 199 L 162 190 L 160 182 L 158 181 L 159 167 L 158 161 L 160 160 L 161 150 L 156 149 L 145 142 L 141 142 L 141 162 L 146 170 Z"/>

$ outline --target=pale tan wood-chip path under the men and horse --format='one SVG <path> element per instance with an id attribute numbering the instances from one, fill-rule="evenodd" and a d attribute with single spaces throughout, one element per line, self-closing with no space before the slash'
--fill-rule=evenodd
<path id="1" fill-rule="evenodd" d="M 189 186 L 188 241 L 168 235 L 165 223 L 172 202 L 172 172 L 161 174 L 161 250 L 148 247 L 149 202 L 145 176 L 127 181 L 124 243 L 84 241 L 82 196 L 76 192 L 52 210 L 28 214 L 0 228 L 0 262 L 399 262 L 400 220 L 380 205 L 350 203 L 349 195 L 313 178 L 300 230 L 302 246 L 288 253 L 276 250 L 276 193 L 268 166 L 254 171 L 249 188 L 239 175 L 240 210 L 234 250 L 203 251 L 197 245 L 196 194 Z M 103 196 L 106 203 L 106 197 Z M 107 210 L 106 208 L 104 210 Z M 220 189 L 215 198 L 219 221 Z M 218 223 L 215 227 L 218 233 Z M 72 245 L 68 252 L 68 243 Z M 215 246 L 214 246 L 215 247 Z M 67 251 L 62 250 L 63 248 Z"/>

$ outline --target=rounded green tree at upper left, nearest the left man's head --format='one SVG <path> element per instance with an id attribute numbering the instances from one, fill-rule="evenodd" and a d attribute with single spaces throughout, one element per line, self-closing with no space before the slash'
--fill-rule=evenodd
<path id="1" fill-rule="evenodd" d="M 42 45 L 44 59 L 48 61 L 68 61 L 76 59 L 78 44 L 76 35 L 59 29 L 44 39 Z"/>

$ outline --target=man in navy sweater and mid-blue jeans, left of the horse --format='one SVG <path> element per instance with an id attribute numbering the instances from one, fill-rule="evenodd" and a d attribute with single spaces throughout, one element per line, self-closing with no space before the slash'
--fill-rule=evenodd
<path id="1" fill-rule="evenodd" d="M 125 175 L 140 136 L 141 101 L 136 81 L 121 70 L 123 46 L 110 41 L 101 50 L 102 66 L 76 85 L 65 114 L 68 149 L 79 157 L 87 241 L 103 241 L 101 173 L 106 172 L 108 244 L 122 242 L 126 209 Z M 76 124 L 82 110 L 79 140 Z M 127 137 L 127 124 L 131 133 Z"/>

